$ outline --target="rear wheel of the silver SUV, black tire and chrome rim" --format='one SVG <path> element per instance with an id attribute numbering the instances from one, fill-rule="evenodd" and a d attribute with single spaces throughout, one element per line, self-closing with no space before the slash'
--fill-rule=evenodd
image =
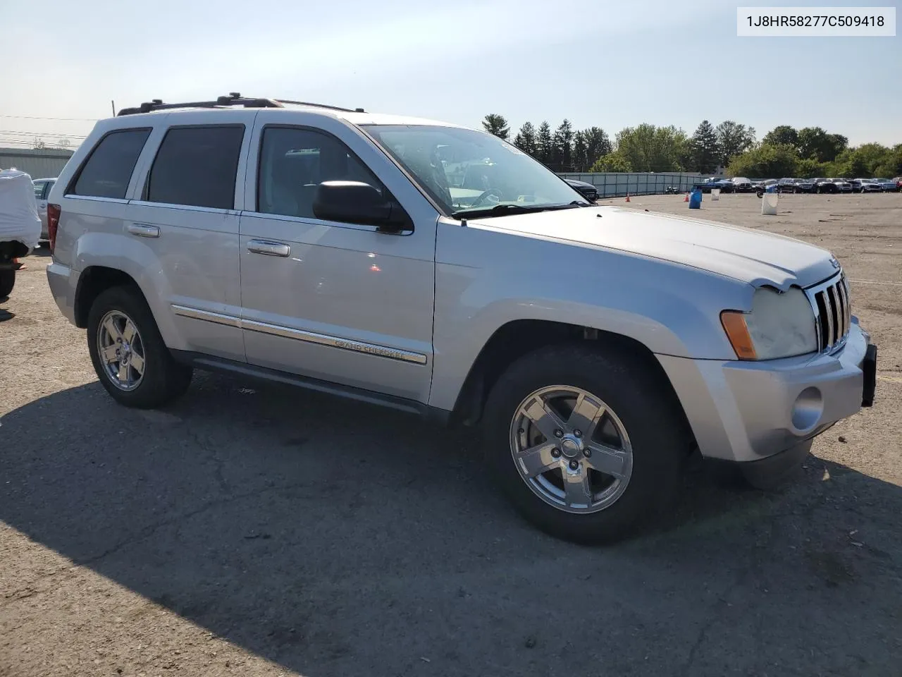
<path id="1" fill-rule="evenodd" d="M 129 322 L 133 333 L 128 329 Z M 111 325 L 118 330 L 120 340 L 115 339 Z M 110 343 L 107 350 L 121 348 L 124 355 L 127 353 L 130 361 L 124 371 L 121 358 L 107 364 L 101 355 L 101 343 Z M 134 287 L 113 287 L 97 296 L 87 314 L 87 349 L 106 392 L 127 407 L 160 407 L 185 394 L 191 383 L 192 369 L 173 359 L 147 301 Z M 141 358 L 140 371 L 137 357 Z M 108 366 L 118 374 L 112 375 Z M 123 375 L 124 378 L 119 377 Z M 124 381 L 128 384 L 124 385 Z"/>

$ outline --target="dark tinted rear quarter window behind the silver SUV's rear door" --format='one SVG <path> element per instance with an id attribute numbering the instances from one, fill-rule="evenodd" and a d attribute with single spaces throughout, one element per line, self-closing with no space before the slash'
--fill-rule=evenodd
<path id="1" fill-rule="evenodd" d="M 106 134 L 78 172 L 73 195 L 124 199 L 134 165 L 150 129 L 124 129 Z"/>

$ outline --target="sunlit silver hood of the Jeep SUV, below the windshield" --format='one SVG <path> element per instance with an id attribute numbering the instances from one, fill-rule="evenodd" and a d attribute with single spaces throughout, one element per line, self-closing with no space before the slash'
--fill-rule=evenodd
<path id="1" fill-rule="evenodd" d="M 560 209 L 470 221 L 470 227 L 601 246 L 786 291 L 835 274 L 830 252 L 791 237 L 617 207 Z"/>

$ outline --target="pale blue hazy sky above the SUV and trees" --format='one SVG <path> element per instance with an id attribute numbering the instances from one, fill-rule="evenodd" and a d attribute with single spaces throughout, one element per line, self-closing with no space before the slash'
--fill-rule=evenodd
<path id="1" fill-rule="evenodd" d="M 759 139 L 793 125 L 902 143 L 902 37 L 737 37 L 739 5 L 902 15 L 899 0 L 0 0 L 0 146 L 77 145 L 111 100 L 230 91 L 475 127 L 498 113 L 511 136 L 565 117 L 612 138 L 732 119 Z"/>

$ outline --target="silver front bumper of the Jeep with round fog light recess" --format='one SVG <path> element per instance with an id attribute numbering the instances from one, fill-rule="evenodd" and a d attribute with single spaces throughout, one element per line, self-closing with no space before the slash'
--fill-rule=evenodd
<path id="1" fill-rule="evenodd" d="M 763 362 L 658 356 L 706 458 L 748 463 L 798 448 L 873 402 L 877 348 L 852 318 L 843 347 Z"/>

